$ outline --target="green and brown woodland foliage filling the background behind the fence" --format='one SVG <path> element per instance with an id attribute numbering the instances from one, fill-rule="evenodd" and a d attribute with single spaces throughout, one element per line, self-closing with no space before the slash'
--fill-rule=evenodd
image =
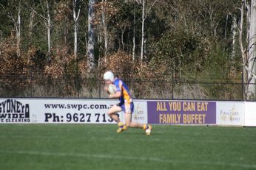
<path id="1" fill-rule="evenodd" d="M 108 0 L 95 3 L 93 24 L 95 63 L 98 64 L 94 69 L 96 74 L 87 71 L 88 1 L 78 1 L 81 5 L 81 13 L 78 18 L 76 59 L 73 54 L 72 1 L 49 1 L 51 18 L 49 53 L 47 52 L 46 1 L 22 1 L 19 46 L 16 37 L 19 1 L 1 1 L 0 74 L 1 77 L 12 75 L 1 79 L 4 89 L 18 87 L 13 95 L 22 96 L 22 93 L 29 89 L 27 83 L 30 85 L 33 83 L 34 91 L 52 85 L 60 89 L 56 95 L 78 96 L 77 94 L 83 91 L 92 93 L 98 89 L 94 80 L 99 79 L 106 70 L 112 70 L 127 80 L 138 98 L 149 94 L 170 97 L 166 93 L 175 91 L 175 87 L 164 83 L 152 83 L 150 82 L 152 80 L 169 83 L 186 83 L 195 80 L 213 82 L 219 79 L 228 82 L 240 81 L 242 69 L 240 53 L 237 50 L 238 36 L 235 37 L 236 43 L 233 48 L 230 31 L 232 16 L 237 16 L 239 20 L 240 1 L 164 0 L 157 1 L 154 5 L 152 5 L 153 1 L 145 1 L 145 60 L 138 59 L 141 54 L 141 1 Z M 107 40 L 107 46 L 104 40 Z M 236 50 L 233 51 L 234 49 Z M 18 50 L 21 52 L 20 56 L 17 55 Z M 235 57 L 231 58 L 234 52 Z M 29 78 L 24 80 L 16 77 Z M 42 77 L 42 79 L 36 81 L 33 77 Z M 86 78 L 93 81 L 83 81 Z M 64 80 L 61 82 L 59 79 Z M 229 96 L 230 91 L 234 90 L 227 86 L 211 88 L 183 84 L 175 93 L 176 96 L 193 97 L 198 93 L 202 98 L 218 97 L 214 89 L 229 91 L 229 93 L 223 92 L 223 96 Z M 235 91 L 238 89 L 235 88 Z M 196 92 L 186 95 L 183 94 L 185 91 Z M 52 88 L 51 93 L 54 92 L 55 88 Z"/>

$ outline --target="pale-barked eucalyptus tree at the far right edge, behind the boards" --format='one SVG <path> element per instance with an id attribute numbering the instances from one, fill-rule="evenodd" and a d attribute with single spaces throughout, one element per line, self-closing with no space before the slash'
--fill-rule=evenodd
<path id="1" fill-rule="evenodd" d="M 246 24 L 243 21 L 246 20 Z M 243 83 L 245 87 L 245 99 L 256 98 L 256 1 L 241 0 L 239 43 L 243 58 Z M 243 26 L 246 26 L 244 32 Z M 246 33 L 246 35 L 244 35 Z M 244 40 L 246 43 L 244 43 Z"/>

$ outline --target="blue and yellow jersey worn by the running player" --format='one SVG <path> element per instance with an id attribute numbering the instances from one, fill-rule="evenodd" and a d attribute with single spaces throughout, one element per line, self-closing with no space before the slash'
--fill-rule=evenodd
<path id="1" fill-rule="evenodd" d="M 121 97 L 119 98 L 121 103 L 131 103 L 132 102 L 132 96 L 129 93 L 129 88 L 128 86 L 118 78 L 114 79 L 113 84 L 116 87 L 116 91 L 121 91 Z"/>

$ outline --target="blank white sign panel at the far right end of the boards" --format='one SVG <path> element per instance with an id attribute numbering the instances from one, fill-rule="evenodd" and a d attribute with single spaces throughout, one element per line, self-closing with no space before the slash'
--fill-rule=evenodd
<path id="1" fill-rule="evenodd" d="M 256 127 L 256 102 L 245 102 L 246 113 L 244 118 L 244 126 Z"/>

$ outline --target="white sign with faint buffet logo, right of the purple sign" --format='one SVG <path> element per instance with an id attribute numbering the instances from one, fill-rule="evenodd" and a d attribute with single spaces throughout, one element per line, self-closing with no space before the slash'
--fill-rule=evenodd
<path id="1" fill-rule="evenodd" d="M 244 112 L 243 102 L 216 102 L 216 124 L 243 126 Z"/>

